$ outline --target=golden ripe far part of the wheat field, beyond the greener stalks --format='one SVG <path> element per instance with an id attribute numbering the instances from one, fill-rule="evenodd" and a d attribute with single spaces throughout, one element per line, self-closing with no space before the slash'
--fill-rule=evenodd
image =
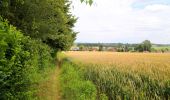
<path id="1" fill-rule="evenodd" d="M 157 74 L 161 79 L 170 79 L 170 53 L 119 53 L 119 52 L 67 52 L 76 62 L 97 64 L 124 71 Z"/>

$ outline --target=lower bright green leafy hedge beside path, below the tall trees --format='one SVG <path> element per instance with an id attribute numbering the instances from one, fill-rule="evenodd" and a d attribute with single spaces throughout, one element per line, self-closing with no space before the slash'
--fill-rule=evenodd
<path id="1" fill-rule="evenodd" d="M 0 18 L 0 100 L 30 99 L 31 86 L 52 66 L 51 49 Z"/>

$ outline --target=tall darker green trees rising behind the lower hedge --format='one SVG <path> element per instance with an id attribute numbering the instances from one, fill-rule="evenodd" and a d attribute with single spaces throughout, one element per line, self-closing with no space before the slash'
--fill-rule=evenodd
<path id="1" fill-rule="evenodd" d="M 0 15 L 25 35 L 56 50 L 68 50 L 76 36 L 70 4 L 68 0 L 2 0 Z"/>

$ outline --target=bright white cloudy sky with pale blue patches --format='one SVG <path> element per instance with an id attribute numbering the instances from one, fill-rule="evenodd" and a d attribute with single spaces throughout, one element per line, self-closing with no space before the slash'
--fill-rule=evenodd
<path id="1" fill-rule="evenodd" d="M 72 0 L 76 42 L 170 44 L 170 0 Z"/>

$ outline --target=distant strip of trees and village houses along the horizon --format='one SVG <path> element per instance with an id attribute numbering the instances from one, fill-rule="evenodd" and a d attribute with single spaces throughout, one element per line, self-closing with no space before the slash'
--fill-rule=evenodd
<path id="1" fill-rule="evenodd" d="M 152 44 L 145 40 L 139 44 L 123 43 L 77 43 L 74 51 L 114 51 L 114 52 L 169 52 L 170 45 Z M 159 49 L 160 48 L 160 49 Z"/>

